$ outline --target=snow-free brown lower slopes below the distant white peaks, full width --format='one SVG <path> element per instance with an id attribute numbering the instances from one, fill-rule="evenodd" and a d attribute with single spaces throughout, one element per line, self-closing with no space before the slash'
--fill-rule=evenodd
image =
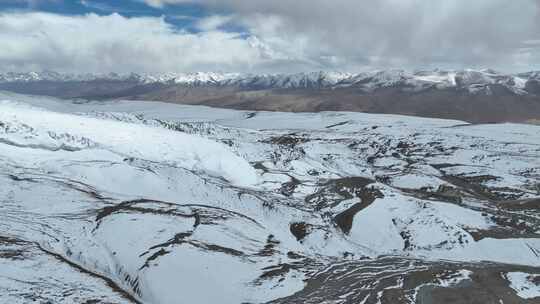
<path id="1" fill-rule="evenodd" d="M 458 119 L 473 123 L 540 121 L 540 96 L 519 95 L 493 85 L 492 94 L 466 89 L 407 87 L 366 92 L 357 87 L 309 89 L 258 89 L 235 86 L 191 87 L 174 84 L 140 84 L 136 81 L 2 83 L 0 90 L 22 94 L 81 99 L 155 100 L 256 111 L 353 111 Z"/>

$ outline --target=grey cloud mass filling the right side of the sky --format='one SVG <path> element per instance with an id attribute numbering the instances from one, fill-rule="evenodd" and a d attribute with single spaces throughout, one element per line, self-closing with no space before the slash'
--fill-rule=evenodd
<path id="1" fill-rule="evenodd" d="M 144 1 L 232 12 L 259 38 L 293 44 L 323 66 L 540 68 L 538 50 L 523 56 L 524 44 L 540 39 L 538 0 Z"/>

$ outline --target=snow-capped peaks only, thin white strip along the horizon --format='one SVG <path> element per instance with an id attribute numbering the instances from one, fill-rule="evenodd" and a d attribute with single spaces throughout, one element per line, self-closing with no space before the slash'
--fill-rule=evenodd
<path id="1" fill-rule="evenodd" d="M 540 72 L 504 74 L 493 70 L 416 71 L 382 70 L 363 73 L 311 72 L 296 74 L 238 73 L 165 73 L 165 74 L 61 74 L 56 72 L 3 73 L 0 83 L 10 82 L 86 82 L 131 81 L 141 84 L 176 84 L 185 86 L 233 86 L 241 88 L 321 89 L 358 87 L 365 90 L 395 86 L 412 90 L 426 88 L 467 88 L 486 92 L 489 86 L 501 85 L 517 94 L 527 94 L 528 85 L 540 83 Z"/>

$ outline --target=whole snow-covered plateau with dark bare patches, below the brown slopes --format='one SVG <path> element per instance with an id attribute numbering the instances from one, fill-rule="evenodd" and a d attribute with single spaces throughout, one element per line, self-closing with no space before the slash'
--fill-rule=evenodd
<path id="1" fill-rule="evenodd" d="M 539 210 L 540 126 L 0 93 L 0 303 L 540 303 Z"/>

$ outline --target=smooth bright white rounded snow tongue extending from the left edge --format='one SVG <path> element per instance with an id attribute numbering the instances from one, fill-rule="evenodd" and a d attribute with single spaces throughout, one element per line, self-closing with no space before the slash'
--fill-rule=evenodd
<path id="1" fill-rule="evenodd" d="M 50 149 L 105 149 L 124 157 L 166 162 L 238 186 L 257 182 L 255 170 L 221 143 L 199 136 L 118 121 L 55 113 L 10 101 L 0 102 L 0 132 L 20 146 Z M 3 130 L 2 130 L 3 129 Z M 18 132 L 15 132 L 15 131 Z"/>

